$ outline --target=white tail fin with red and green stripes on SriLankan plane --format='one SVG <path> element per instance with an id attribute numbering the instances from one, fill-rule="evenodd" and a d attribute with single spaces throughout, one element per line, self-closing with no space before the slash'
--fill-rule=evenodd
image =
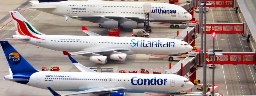
<path id="1" fill-rule="evenodd" d="M 10 15 L 12 17 L 12 21 L 16 27 L 17 35 L 29 36 L 36 39 L 38 38 L 36 35 L 45 35 L 37 31 L 19 12 L 10 11 Z M 43 40 L 43 39 L 41 39 Z"/>

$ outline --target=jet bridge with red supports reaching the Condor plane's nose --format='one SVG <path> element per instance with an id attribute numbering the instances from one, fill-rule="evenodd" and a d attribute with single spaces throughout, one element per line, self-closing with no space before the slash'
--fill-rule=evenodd
<path id="1" fill-rule="evenodd" d="M 199 52 L 189 52 L 187 58 L 176 63 L 171 69 L 166 70 L 166 74 L 176 74 L 185 76 L 187 73 L 190 81 L 193 82 L 196 79 L 197 62 L 199 61 Z"/>

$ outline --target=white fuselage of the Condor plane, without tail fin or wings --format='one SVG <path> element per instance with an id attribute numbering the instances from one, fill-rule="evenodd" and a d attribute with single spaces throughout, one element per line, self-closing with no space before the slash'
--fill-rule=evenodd
<path id="1" fill-rule="evenodd" d="M 150 81 L 151 80 L 151 81 Z M 155 81 L 156 80 L 156 81 Z M 185 81 L 187 80 L 187 82 Z M 188 79 L 172 74 L 36 72 L 26 84 L 58 91 L 83 91 L 100 87 L 125 87 L 124 92 L 177 93 L 193 87 Z"/>

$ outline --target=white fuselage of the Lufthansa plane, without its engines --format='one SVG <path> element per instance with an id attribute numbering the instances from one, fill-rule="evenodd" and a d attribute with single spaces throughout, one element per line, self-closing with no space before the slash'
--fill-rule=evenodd
<path id="1" fill-rule="evenodd" d="M 148 2 L 150 3 L 150 2 Z M 31 4 L 31 7 L 56 6 L 56 8 L 37 9 L 46 13 L 59 16 L 100 16 L 110 18 L 123 17 L 132 19 L 138 23 L 145 21 L 145 2 L 104 2 L 104 1 L 61 1 L 61 2 L 41 2 Z M 169 3 L 150 3 L 150 22 L 186 22 L 192 16 L 182 7 Z M 117 20 L 119 23 L 125 19 Z M 102 23 L 102 21 L 92 21 Z"/>

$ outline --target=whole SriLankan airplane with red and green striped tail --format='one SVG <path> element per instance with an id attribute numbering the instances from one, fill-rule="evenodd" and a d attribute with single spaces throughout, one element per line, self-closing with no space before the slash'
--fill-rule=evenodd
<path id="1" fill-rule="evenodd" d="M 105 64 L 110 59 L 125 61 L 130 54 L 182 54 L 193 49 L 188 43 L 167 38 L 109 37 L 88 31 L 90 36 L 45 35 L 38 32 L 19 12 L 10 11 L 18 39 L 36 46 L 64 51 L 64 55 L 83 55 L 91 62 Z M 74 52 L 68 53 L 66 51 Z"/>

